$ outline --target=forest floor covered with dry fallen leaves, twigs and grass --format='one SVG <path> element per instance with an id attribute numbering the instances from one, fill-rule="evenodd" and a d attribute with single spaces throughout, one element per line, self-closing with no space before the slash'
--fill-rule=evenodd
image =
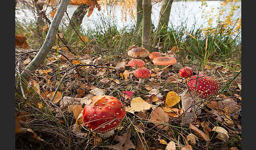
<path id="1" fill-rule="evenodd" d="M 37 51 L 16 48 L 17 70 L 22 71 Z M 131 73 L 134 69 L 127 66 L 132 59 L 127 51 L 110 55 L 110 49 L 88 46 L 74 54 L 66 47 L 54 46 L 43 65 L 33 72 L 23 95 L 16 94 L 16 148 L 173 149 L 175 143 L 176 149 L 189 149 L 186 145 L 193 149 L 241 149 L 241 64 L 235 61 L 239 58 L 209 61 L 200 69 L 201 63 L 185 63 L 175 53 L 174 57 L 177 63 L 168 67 L 141 58 L 151 77 L 139 84 Z M 213 77 L 220 89 L 228 85 L 211 103 L 203 103 L 201 113 L 186 124 L 182 124 L 186 112 L 182 110 L 185 98 L 181 94 L 187 88 L 186 79 L 179 75 L 181 67 Z M 126 95 L 125 91 L 132 92 Z M 168 110 L 164 106 L 170 91 L 181 101 Z M 112 95 L 126 107 L 124 120 L 110 137 L 91 132 L 78 121 L 84 100 L 93 95 Z M 135 107 L 131 101 L 138 97 L 143 99 L 138 104 L 141 109 L 128 111 L 130 106 Z M 145 109 L 145 103 L 151 107 Z M 153 111 L 163 114 L 153 119 Z M 214 126 L 221 127 L 218 133 L 212 131 Z M 22 132 L 24 128 L 26 132 Z"/>

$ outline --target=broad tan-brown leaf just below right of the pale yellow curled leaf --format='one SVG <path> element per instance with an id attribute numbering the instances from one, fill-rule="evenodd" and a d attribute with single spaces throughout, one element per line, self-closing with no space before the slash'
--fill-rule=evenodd
<path id="1" fill-rule="evenodd" d="M 156 108 L 150 116 L 150 121 L 153 122 L 157 128 L 162 129 L 162 130 L 169 130 L 168 125 L 163 125 L 163 124 L 169 124 L 169 117 L 168 114 L 164 112 L 164 110 L 161 107 Z M 161 124 L 161 125 L 160 125 Z"/>

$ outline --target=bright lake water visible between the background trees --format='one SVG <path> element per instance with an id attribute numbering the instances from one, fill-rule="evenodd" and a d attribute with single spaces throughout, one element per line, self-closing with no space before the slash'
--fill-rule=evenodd
<path id="1" fill-rule="evenodd" d="M 212 15 L 218 14 L 218 7 L 221 7 L 221 3 L 223 1 L 206 1 L 208 7 L 206 7 L 206 10 L 211 10 L 211 8 L 214 8 L 214 12 L 212 12 Z M 208 20 L 202 18 L 202 9 L 201 2 L 188 2 L 188 1 L 180 1 L 180 2 L 173 2 L 172 8 L 171 8 L 171 15 L 170 15 L 170 22 L 169 26 L 179 27 L 180 25 L 185 25 L 187 29 L 192 29 L 193 26 L 195 28 L 199 27 L 207 27 L 208 26 Z M 241 17 L 241 2 L 237 2 L 236 5 L 239 5 L 240 8 L 234 12 L 233 18 L 240 18 Z M 75 11 L 77 6 L 74 5 L 68 5 L 67 7 L 67 13 L 71 17 L 73 12 Z M 224 11 L 224 15 L 228 15 L 230 6 L 225 6 L 227 9 Z M 129 27 L 135 25 L 135 18 L 127 15 L 126 21 L 122 20 L 122 13 L 121 13 L 121 7 L 117 6 L 113 10 L 112 7 L 106 7 L 106 9 L 103 10 L 97 10 L 97 8 L 94 8 L 93 13 L 90 17 L 86 16 L 83 19 L 82 22 L 82 28 L 87 29 L 95 29 L 99 25 L 103 25 L 102 18 L 105 18 L 104 20 L 108 20 L 109 23 L 116 24 L 117 29 L 122 29 L 126 27 L 129 29 Z M 159 20 L 159 12 L 161 9 L 160 4 L 155 4 L 152 6 L 152 23 L 154 26 L 157 26 L 158 20 Z M 28 10 L 24 13 L 21 10 L 16 10 L 16 19 L 21 20 L 22 18 L 25 18 L 26 21 L 29 19 L 34 19 L 33 13 L 29 12 Z M 114 14 L 114 16 L 109 15 L 109 13 Z M 216 20 L 213 20 L 213 24 L 216 25 Z M 64 19 L 62 20 L 62 25 L 64 23 L 68 23 L 68 20 L 66 18 L 66 14 L 64 15 Z"/>

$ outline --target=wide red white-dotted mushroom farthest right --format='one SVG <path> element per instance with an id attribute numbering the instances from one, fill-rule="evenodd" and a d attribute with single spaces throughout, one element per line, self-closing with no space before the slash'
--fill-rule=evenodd
<path id="1" fill-rule="evenodd" d="M 197 78 L 197 81 L 196 81 Z M 197 85 L 195 86 L 195 84 Z M 218 93 L 219 90 L 219 84 L 218 82 L 209 76 L 192 76 L 188 81 L 188 88 L 191 91 L 195 91 L 199 94 L 201 98 L 207 98 L 211 96 L 211 98 Z"/>

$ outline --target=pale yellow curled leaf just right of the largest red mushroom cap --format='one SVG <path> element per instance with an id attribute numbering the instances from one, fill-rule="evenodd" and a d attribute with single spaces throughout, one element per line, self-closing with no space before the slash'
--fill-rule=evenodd
<path id="1" fill-rule="evenodd" d="M 131 106 L 126 106 L 125 110 L 130 113 L 150 110 L 154 105 L 145 102 L 141 97 L 133 98 Z"/>

